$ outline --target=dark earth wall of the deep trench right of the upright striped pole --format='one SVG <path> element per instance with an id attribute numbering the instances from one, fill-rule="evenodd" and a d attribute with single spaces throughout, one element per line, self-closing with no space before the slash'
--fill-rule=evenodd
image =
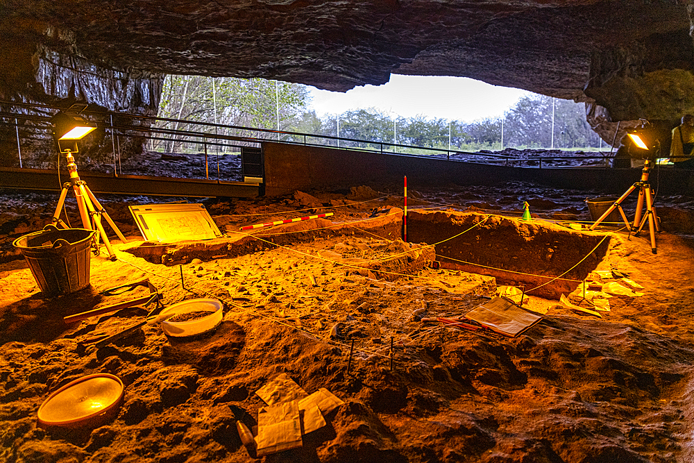
<path id="1" fill-rule="evenodd" d="M 547 221 L 448 211 L 410 211 L 407 238 L 436 244 L 443 268 L 494 276 L 500 285 L 525 285 L 528 294 L 548 298 L 576 289 L 609 246 L 609 237 L 600 243 L 601 233 L 575 231 Z M 563 279 L 550 282 L 564 272 Z"/>

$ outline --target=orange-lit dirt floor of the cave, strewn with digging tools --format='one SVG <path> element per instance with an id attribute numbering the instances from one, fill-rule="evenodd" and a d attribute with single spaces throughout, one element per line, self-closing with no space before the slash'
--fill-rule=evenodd
<path id="1" fill-rule="evenodd" d="M 161 200 L 107 197 L 102 204 L 128 243 L 113 241 L 115 261 L 103 248 L 92 257 L 89 287 L 46 298 L 8 243 L 50 220 L 53 196 L 3 194 L 0 461 L 251 461 L 255 452 L 242 445 L 236 423 L 257 425 L 265 403 L 255 392 L 281 373 L 307 394 L 325 388 L 344 404 L 325 413 L 326 426 L 304 435 L 301 448 L 262 457 L 268 462 L 694 460 L 688 199 L 661 199 L 668 231 L 657 235 L 653 254 L 648 233 L 570 228 L 590 224 L 585 192 L 533 185 L 411 191 L 410 210 L 447 210 L 448 217 L 409 224 L 415 244 L 398 239 L 403 201 L 395 190 L 205 201 L 227 236 L 169 246 L 144 242 L 127 209 Z M 530 222 L 518 219 L 523 201 L 530 203 Z M 77 223 L 74 204 L 67 208 Z M 325 212 L 334 215 L 239 233 L 249 224 Z M 507 228 L 482 234 L 487 216 L 507 221 Z M 471 224 L 476 228 L 468 230 Z M 456 230 L 463 233 L 459 241 L 442 242 Z M 471 233 L 477 241 L 462 238 Z M 542 233 L 575 240 L 557 240 L 552 251 L 537 247 L 530 262 L 514 239 L 530 242 Z M 517 337 L 437 321 L 463 316 L 497 293 L 520 302 L 507 285 L 523 289 L 523 276 L 495 278 L 494 271 L 535 268 L 542 278 L 568 272 L 579 264 L 578 249 L 606 236 L 602 252 L 591 252 L 592 245 L 585 251 L 592 262 L 584 264 L 589 294 L 584 298 L 577 281 L 566 292 L 592 313 L 541 298 L 527 284 L 523 307 L 542 319 Z M 495 252 L 477 258 L 495 255 L 498 269 L 477 266 L 486 274 L 473 273 L 479 262 L 468 260 L 466 271 L 437 264 L 443 256 L 470 256 L 461 250 L 479 241 Z M 564 271 L 554 276 L 570 275 Z M 643 288 L 611 297 L 590 293 L 620 273 Z M 152 306 L 63 321 L 148 294 L 144 287 L 100 294 L 144 278 L 166 306 L 217 298 L 222 323 L 192 338 L 167 337 L 160 325 L 146 324 L 97 346 L 91 337 L 144 321 Z M 607 299 L 609 311 L 596 309 L 596 299 Z M 124 382 L 116 416 L 72 432 L 37 426 L 38 407 L 51 392 L 99 372 Z"/>

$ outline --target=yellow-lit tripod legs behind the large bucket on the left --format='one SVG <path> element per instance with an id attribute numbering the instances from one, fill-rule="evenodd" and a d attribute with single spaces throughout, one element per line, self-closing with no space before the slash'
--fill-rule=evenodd
<path id="1" fill-rule="evenodd" d="M 60 219 L 60 209 L 65 205 L 65 198 L 67 197 L 67 190 L 72 187 L 75 192 L 75 197 L 77 199 L 77 208 L 80 211 L 80 217 L 82 219 L 82 225 L 87 230 L 99 230 L 99 234 L 96 235 L 96 249 L 94 249 L 94 254 L 99 254 L 99 236 L 103 239 L 103 244 L 108 250 L 108 258 L 110 260 L 116 260 L 116 255 L 113 252 L 111 243 L 106 236 L 105 230 L 103 230 L 103 225 L 101 225 L 101 216 L 105 217 L 108 224 L 116 232 L 121 242 L 127 242 L 126 237 L 124 237 L 121 230 L 118 229 L 116 224 L 108 216 L 108 213 L 101 207 L 99 201 L 96 200 L 96 196 L 89 189 L 87 183 L 80 179 L 77 174 L 77 165 L 75 164 L 75 158 L 72 156 L 72 152 L 67 149 L 65 150 L 67 156 L 67 171 L 70 174 L 70 181 L 62 184 L 62 192 L 60 192 L 60 199 L 58 199 L 58 206 L 56 206 L 56 212 L 53 214 L 52 224 L 56 226 L 62 226 L 62 228 L 67 228 L 65 223 Z M 96 207 L 95 207 L 96 206 Z M 91 221 L 90 221 L 91 216 Z"/>

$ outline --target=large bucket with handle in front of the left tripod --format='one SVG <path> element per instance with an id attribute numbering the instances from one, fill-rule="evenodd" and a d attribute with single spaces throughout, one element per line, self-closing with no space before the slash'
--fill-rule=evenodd
<path id="1" fill-rule="evenodd" d="M 70 294 L 89 285 L 90 246 L 95 230 L 46 225 L 15 239 L 36 283 L 46 296 Z"/>

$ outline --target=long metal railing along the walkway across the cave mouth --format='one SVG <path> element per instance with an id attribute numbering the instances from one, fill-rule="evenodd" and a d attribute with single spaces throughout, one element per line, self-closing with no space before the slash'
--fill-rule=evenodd
<path id="1" fill-rule="evenodd" d="M 23 140 L 25 145 L 36 145 L 37 142 L 35 142 L 35 140 L 44 140 L 44 143 L 49 144 L 48 148 L 44 146 L 46 153 L 51 152 L 53 149 L 50 123 L 51 116 L 58 110 L 64 110 L 63 108 L 10 101 L 0 101 L 0 106 L 14 106 L 15 108 L 26 108 L 27 112 L 46 113 L 46 115 L 41 115 L 22 114 L 19 112 L 0 112 L 0 126 L 14 128 L 17 138 L 17 161 L 20 168 L 31 167 L 32 164 L 28 162 L 26 155 L 24 157 L 25 159 L 22 159 Z M 51 115 L 47 115 L 48 113 L 51 113 Z M 602 151 L 600 155 L 531 155 L 527 158 L 518 158 L 511 155 L 496 153 L 474 153 L 470 151 L 460 151 L 458 149 L 429 148 L 408 144 L 336 137 L 332 135 L 316 135 L 310 133 L 277 131 L 266 128 L 230 126 L 211 122 L 142 116 L 127 113 L 85 110 L 83 114 L 96 121 L 97 125 L 105 131 L 103 141 L 99 146 L 99 153 L 101 153 L 101 158 L 103 158 L 105 154 L 104 151 L 107 149 L 107 144 L 110 145 L 112 164 L 109 163 L 108 166 L 112 167 L 112 173 L 114 175 L 123 174 L 121 141 L 124 140 L 137 140 L 140 146 L 149 145 L 150 147 L 157 148 L 156 151 L 151 150 L 148 151 L 148 153 L 150 155 L 162 155 L 162 160 L 177 158 L 173 150 L 170 153 L 174 153 L 174 155 L 169 155 L 170 153 L 165 151 L 167 144 L 172 147 L 180 146 L 178 153 L 185 154 L 189 160 L 194 160 L 204 155 L 205 176 L 202 176 L 197 169 L 192 169 L 195 170 L 195 172 L 189 172 L 188 175 L 183 176 L 183 178 L 210 178 L 209 160 L 213 158 L 216 160 L 218 180 L 222 179 L 222 172 L 225 174 L 224 180 L 241 179 L 240 160 L 223 162 L 223 165 L 220 166 L 220 158 L 225 158 L 227 156 L 238 157 L 240 149 L 243 146 L 258 146 L 262 144 L 262 142 L 323 146 L 333 149 L 370 151 L 384 155 L 435 157 L 445 158 L 451 161 L 483 162 L 514 167 L 536 167 L 539 169 L 543 167 L 565 167 L 566 165 L 579 165 L 582 163 L 590 164 L 591 162 L 595 163 L 597 166 L 609 166 L 609 162 L 612 159 L 611 153 L 603 153 Z M 176 127 L 183 126 L 184 129 L 170 128 L 167 124 L 175 124 Z M 40 135 L 42 132 L 43 134 Z M 107 140 L 107 136 L 110 137 L 110 140 Z M 160 144 L 164 144 L 164 149 L 161 151 L 158 150 L 158 145 Z M 211 152 L 210 148 L 212 149 Z M 27 150 L 25 149 L 24 151 L 26 153 Z M 140 155 L 140 158 L 142 158 L 142 155 Z M 139 163 L 136 162 L 135 167 L 137 167 L 136 170 L 138 172 L 141 172 L 146 166 L 144 166 L 143 161 Z M 98 167 L 95 169 L 98 170 Z M 128 169 L 126 168 L 126 173 L 127 171 Z"/>

